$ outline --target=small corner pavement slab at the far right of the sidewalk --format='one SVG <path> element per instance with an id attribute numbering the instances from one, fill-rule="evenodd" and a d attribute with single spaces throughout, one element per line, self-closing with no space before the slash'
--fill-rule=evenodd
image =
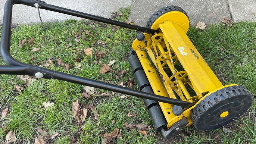
<path id="1" fill-rule="evenodd" d="M 255 22 L 255 0 L 228 0 L 232 18 L 235 22 L 253 21 Z"/>

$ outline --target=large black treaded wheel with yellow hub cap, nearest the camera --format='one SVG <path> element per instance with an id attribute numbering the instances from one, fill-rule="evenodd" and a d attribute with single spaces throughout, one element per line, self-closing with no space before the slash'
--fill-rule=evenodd
<path id="1" fill-rule="evenodd" d="M 199 131 L 210 131 L 227 125 L 243 115 L 253 101 L 252 94 L 240 85 L 229 86 L 211 93 L 193 108 L 191 119 Z M 223 112 L 227 116 L 220 116 Z"/>

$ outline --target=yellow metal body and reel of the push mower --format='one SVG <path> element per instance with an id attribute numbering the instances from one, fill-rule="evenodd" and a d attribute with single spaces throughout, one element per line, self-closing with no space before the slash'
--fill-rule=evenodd
<path id="1" fill-rule="evenodd" d="M 154 94 L 176 99 L 178 95 L 183 101 L 195 103 L 176 116 L 172 113 L 174 105 L 159 102 L 168 128 L 184 117 L 191 125 L 191 110 L 200 100 L 213 91 L 230 86 L 221 84 L 187 37 L 188 27 L 189 20 L 184 13 L 168 12 L 157 18 L 151 26 L 159 30 L 158 34 L 144 33 L 144 41 L 136 39 L 132 44 Z M 188 87 L 194 91 L 194 95 L 188 92 Z M 228 112 L 225 112 L 221 116 L 227 115 Z"/>

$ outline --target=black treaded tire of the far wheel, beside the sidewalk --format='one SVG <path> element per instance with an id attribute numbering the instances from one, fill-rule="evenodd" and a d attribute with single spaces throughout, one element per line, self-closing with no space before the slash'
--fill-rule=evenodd
<path id="1" fill-rule="evenodd" d="M 184 13 L 187 17 L 187 13 L 178 6 L 165 6 L 162 7 L 161 9 L 157 10 L 150 18 L 149 21 L 147 21 L 147 25 L 146 28 L 151 28 L 152 24 L 154 23 L 154 21 L 156 21 L 157 18 L 159 18 L 161 15 L 168 13 L 168 12 L 173 12 L 173 11 L 178 11 L 178 12 L 182 12 Z M 188 18 L 189 21 L 189 18 Z"/>

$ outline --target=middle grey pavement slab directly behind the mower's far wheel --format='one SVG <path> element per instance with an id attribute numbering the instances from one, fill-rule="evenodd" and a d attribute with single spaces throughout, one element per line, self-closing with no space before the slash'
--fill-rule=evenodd
<path id="1" fill-rule="evenodd" d="M 197 22 L 219 23 L 222 17 L 231 19 L 227 0 L 133 0 L 129 19 L 145 26 L 150 16 L 164 6 L 176 5 L 187 12 L 190 25 Z"/>

